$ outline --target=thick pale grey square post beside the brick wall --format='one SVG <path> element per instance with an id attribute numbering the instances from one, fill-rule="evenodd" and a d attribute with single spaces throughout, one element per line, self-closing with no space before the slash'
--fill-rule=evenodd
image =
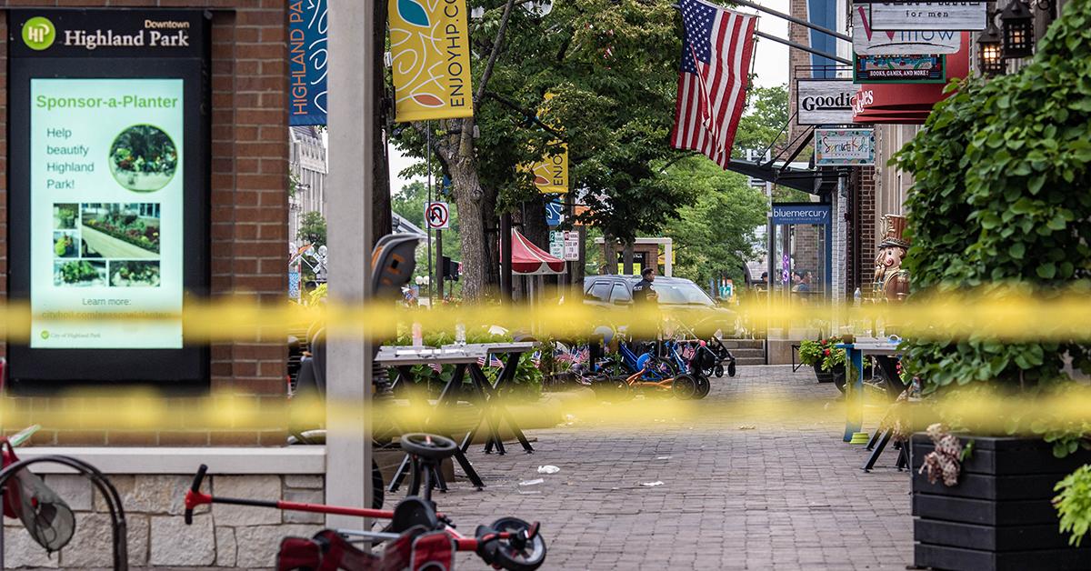
<path id="1" fill-rule="evenodd" d="M 329 299 L 359 306 L 372 296 L 371 201 L 374 192 L 372 67 L 373 10 L 369 2 L 329 0 Z M 363 323 L 327 330 L 326 501 L 371 505 L 372 342 Z M 361 343 L 360 340 L 363 340 Z M 370 522 L 327 515 L 332 528 L 370 528 Z"/>

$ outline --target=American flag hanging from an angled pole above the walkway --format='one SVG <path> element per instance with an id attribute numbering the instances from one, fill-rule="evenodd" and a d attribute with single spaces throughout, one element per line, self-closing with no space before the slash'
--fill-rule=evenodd
<path id="1" fill-rule="evenodd" d="M 700 151 L 723 168 L 746 105 L 757 16 L 680 0 L 682 68 L 671 146 Z"/>

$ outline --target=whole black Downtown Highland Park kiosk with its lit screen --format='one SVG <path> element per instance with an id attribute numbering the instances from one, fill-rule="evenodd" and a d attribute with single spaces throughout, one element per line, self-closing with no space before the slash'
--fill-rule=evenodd
<path id="1" fill-rule="evenodd" d="M 16 385 L 204 376 L 181 312 L 208 281 L 207 25 L 199 11 L 9 13 L 9 279 L 32 309 Z"/>

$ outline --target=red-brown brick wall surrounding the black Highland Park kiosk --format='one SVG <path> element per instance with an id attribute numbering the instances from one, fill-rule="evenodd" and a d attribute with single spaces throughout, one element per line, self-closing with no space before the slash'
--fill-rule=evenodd
<path id="1" fill-rule="evenodd" d="M 285 0 L 4 0 L 2 8 L 207 8 L 212 25 L 212 295 L 281 301 L 287 292 L 288 114 Z M 7 107 L 7 16 L 0 17 L 0 105 Z M 7 109 L 0 122 L 7 119 Z M 7 126 L 0 126 L 7 174 Z M 0 178 L 0 295 L 7 295 L 7 177 Z M 212 389 L 281 400 L 287 348 L 266 334 L 212 347 Z M 48 406 L 41 398 L 29 406 Z M 276 445 L 284 430 L 86 433 L 43 430 L 36 444 Z"/>

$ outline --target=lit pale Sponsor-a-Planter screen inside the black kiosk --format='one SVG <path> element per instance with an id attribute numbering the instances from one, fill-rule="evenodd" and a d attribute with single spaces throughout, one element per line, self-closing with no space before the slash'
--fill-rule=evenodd
<path id="1" fill-rule="evenodd" d="M 182 347 L 183 105 L 182 80 L 31 80 L 31 347 Z"/>

